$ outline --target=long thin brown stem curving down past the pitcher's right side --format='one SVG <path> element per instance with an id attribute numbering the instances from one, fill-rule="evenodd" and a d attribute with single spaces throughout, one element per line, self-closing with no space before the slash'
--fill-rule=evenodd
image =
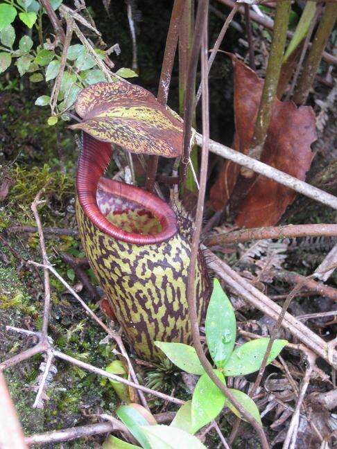
<path id="1" fill-rule="evenodd" d="M 201 2 L 200 2 L 201 3 Z M 200 8 L 200 3 L 198 9 Z M 207 17 L 208 2 L 204 4 L 205 17 Z M 204 19 L 205 20 L 205 19 Z M 221 392 L 230 400 L 230 402 L 239 410 L 240 414 L 254 427 L 261 440 L 261 446 L 263 449 L 269 448 L 266 435 L 263 432 L 263 428 L 257 423 L 257 421 L 245 410 L 245 408 L 239 403 L 238 400 L 232 395 L 226 385 L 221 382 L 213 371 L 213 367 L 207 360 L 207 357 L 202 349 L 200 342 L 200 333 L 198 326 L 198 317 L 196 312 L 195 303 L 195 276 L 196 276 L 196 261 L 199 252 L 200 234 L 202 227 L 202 218 L 204 211 L 205 192 L 207 183 L 207 165 L 208 165 L 208 153 L 209 153 L 209 98 L 208 98 L 208 73 L 207 73 L 207 28 L 205 21 L 201 21 L 199 26 L 202 26 L 198 33 L 194 34 L 194 38 L 198 36 L 199 41 L 202 40 L 202 57 L 201 57 L 201 73 L 202 73 L 202 154 L 201 154 L 201 169 L 200 169 L 200 190 L 198 195 L 198 204 L 196 209 L 196 222 L 193 229 L 193 237 L 191 244 L 191 261 L 189 265 L 188 285 L 187 285 L 187 301 L 189 303 L 189 317 L 191 320 L 191 331 L 193 336 L 193 345 L 196 349 L 198 358 L 205 369 L 207 375 Z M 201 33 L 202 35 L 200 35 Z M 198 44 L 198 42 L 196 42 Z M 201 44 L 201 42 L 200 42 Z M 196 65 L 194 70 L 196 70 Z M 192 98 L 191 98 L 192 99 Z M 185 101 L 186 106 L 186 101 Z"/>

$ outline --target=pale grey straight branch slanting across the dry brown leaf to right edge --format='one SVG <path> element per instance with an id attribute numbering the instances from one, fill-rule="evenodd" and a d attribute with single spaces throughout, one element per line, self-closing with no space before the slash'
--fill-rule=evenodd
<path id="1" fill-rule="evenodd" d="M 202 146 L 202 135 L 196 133 L 195 138 L 197 145 Z M 230 161 L 243 167 L 250 168 L 254 172 L 273 179 L 274 181 L 279 182 L 279 184 L 292 188 L 294 191 L 302 193 L 302 195 L 306 195 L 326 206 L 337 209 L 337 197 L 320 190 L 320 188 L 311 186 L 304 181 L 300 181 L 300 179 L 288 175 L 281 170 L 277 170 L 277 168 L 263 164 L 263 162 L 257 161 L 257 159 L 243 155 L 238 151 L 232 150 L 232 148 L 212 140 L 209 140 L 209 151 L 214 152 L 218 156 L 225 157 L 225 159 L 230 159 Z"/>

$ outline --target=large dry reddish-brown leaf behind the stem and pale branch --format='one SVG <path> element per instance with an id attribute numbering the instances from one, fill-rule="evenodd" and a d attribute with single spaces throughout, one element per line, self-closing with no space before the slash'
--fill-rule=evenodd
<path id="1" fill-rule="evenodd" d="M 230 55 L 234 64 L 234 110 L 236 134 L 234 148 L 248 153 L 263 89 L 263 80 L 243 62 Z M 304 180 L 311 166 L 310 145 L 316 139 L 313 109 L 297 109 L 291 101 L 275 99 L 261 161 Z M 216 184 L 211 188 L 211 206 L 222 209 L 227 204 L 239 176 L 239 166 L 226 161 Z M 239 206 L 239 227 L 273 226 L 279 221 L 296 193 L 261 175 L 257 176 Z"/>

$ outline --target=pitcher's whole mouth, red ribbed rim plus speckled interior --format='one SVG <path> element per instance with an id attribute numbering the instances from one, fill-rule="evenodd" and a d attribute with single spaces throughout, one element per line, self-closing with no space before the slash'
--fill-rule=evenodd
<path id="1" fill-rule="evenodd" d="M 111 147 L 83 133 L 76 191 L 83 213 L 107 236 L 135 245 L 168 240 L 177 232 L 177 218 L 159 197 L 122 182 L 101 177 Z"/>

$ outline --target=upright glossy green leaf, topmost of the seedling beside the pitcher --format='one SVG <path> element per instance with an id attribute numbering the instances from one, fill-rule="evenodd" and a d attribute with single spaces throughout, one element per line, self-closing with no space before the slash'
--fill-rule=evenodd
<path id="1" fill-rule="evenodd" d="M 218 368 L 223 368 L 234 349 L 236 319 L 232 304 L 221 288 L 218 279 L 214 279 L 205 327 L 211 358 Z"/>

